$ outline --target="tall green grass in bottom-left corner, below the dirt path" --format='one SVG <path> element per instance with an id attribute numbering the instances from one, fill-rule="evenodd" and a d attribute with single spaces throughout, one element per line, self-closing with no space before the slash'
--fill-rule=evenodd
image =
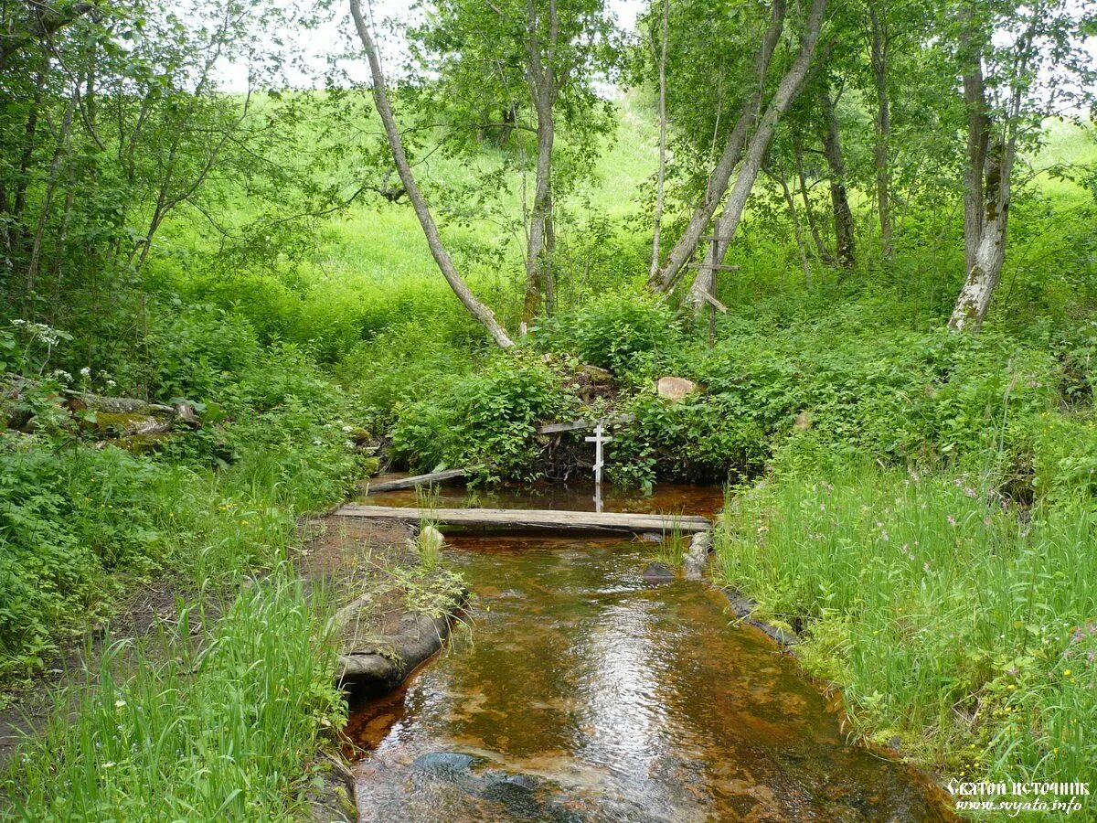
<path id="1" fill-rule="evenodd" d="M 151 650 L 116 645 L 0 785 L 24 820 L 291 820 L 321 731 L 344 711 L 329 609 L 289 567 L 192 635 L 183 608 Z M 125 674 L 133 672 L 133 674 Z M 0 812 L 2 814 L 2 812 Z"/>

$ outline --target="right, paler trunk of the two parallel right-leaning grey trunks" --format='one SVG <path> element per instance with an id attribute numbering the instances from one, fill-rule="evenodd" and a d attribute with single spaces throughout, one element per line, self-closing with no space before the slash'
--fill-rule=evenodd
<path id="1" fill-rule="evenodd" d="M 819 31 L 823 29 L 823 12 L 826 9 L 826 0 L 813 0 L 812 9 L 807 18 L 807 26 L 800 40 L 800 50 L 795 60 L 789 67 L 788 72 L 781 78 L 781 82 L 770 100 L 766 114 L 758 123 L 758 129 L 750 138 L 746 155 L 739 172 L 735 178 L 735 185 L 727 198 L 724 211 L 716 219 L 714 234 L 716 240 L 709 246 L 705 253 L 704 263 L 698 270 L 690 288 L 687 303 L 692 307 L 694 314 L 708 303 L 705 295 L 712 293 L 713 267 L 720 266 L 724 261 L 727 248 L 735 237 L 739 219 L 743 217 L 743 210 L 746 207 L 747 198 L 754 189 L 755 180 L 761 170 L 762 161 L 769 151 L 769 144 L 773 139 L 778 123 L 788 110 L 789 105 L 800 93 L 800 87 L 804 82 L 807 69 L 811 67 L 812 57 L 815 54 L 815 45 L 818 43 Z"/>

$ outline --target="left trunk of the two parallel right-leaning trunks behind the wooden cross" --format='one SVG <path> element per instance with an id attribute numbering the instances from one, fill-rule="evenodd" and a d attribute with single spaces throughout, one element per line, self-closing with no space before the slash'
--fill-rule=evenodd
<path id="1" fill-rule="evenodd" d="M 727 135 L 720 160 L 716 161 L 716 167 L 709 177 L 704 196 L 693 211 L 689 225 L 686 226 L 686 232 L 674 249 L 670 250 L 670 255 L 667 257 L 667 261 L 663 264 L 663 268 L 648 281 L 653 288 L 658 288 L 659 291 L 669 291 L 678 282 L 682 267 L 692 257 L 701 233 L 709 225 L 712 215 L 716 212 L 720 200 L 724 196 L 724 192 L 727 191 L 727 183 L 732 179 L 732 172 L 739 161 L 739 156 L 743 154 L 743 146 L 746 143 L 750 126 L 761 106 L 762 90 L 766 86 L 769 60 L 773 55 L 773 49 L 777 47 L 781 31 L 784 27 L 784 0 L 774 0 L 769 27 L 766 30 L 766 35 L 762 37 L 755 57 L 758 90 L 750 99 L 744 101 L 743 108 L 739 110 L 739 119 L 735 123 L 735 127 Z"/>

